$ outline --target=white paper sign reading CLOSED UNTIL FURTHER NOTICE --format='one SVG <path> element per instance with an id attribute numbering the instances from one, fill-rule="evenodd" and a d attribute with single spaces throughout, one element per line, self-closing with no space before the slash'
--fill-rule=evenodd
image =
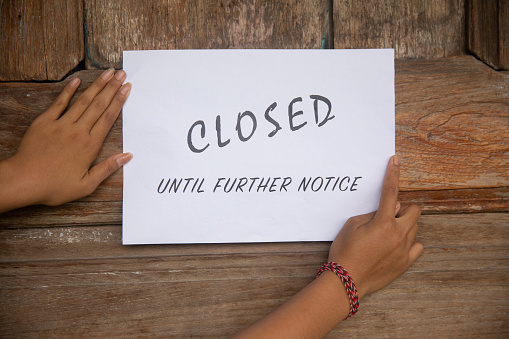
<path id="1" fill-rule="evenodd" d="M 329 241 L 378 208 L 393 50 L 123 57 L 124 244 Z"/>

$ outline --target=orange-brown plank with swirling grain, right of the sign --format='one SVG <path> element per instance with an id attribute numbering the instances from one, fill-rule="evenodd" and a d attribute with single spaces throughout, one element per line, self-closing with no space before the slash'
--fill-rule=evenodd
<path id="1" fill-rule="evenodd" d="M 422 73 L 433 64 L 440 70 Z M 508 186 L 508 75 L 472 57 L 399 65 L 396 148 L 411 173 L 404 190 Z"/>

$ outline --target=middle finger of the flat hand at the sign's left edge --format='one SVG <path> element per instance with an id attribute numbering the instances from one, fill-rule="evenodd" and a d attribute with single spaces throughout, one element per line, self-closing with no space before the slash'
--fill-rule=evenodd
<path id="1" fill-rule="evenodd" d="M 122 87 L 125 77 L 126 74 L 123 70 L 118 71 L 117 74 L 111 78 L 108 84 L 106 84 L 103 90 L 94 98 L 78 122 L 80 124 L 83 123 L 85 126 L 92 129 L 97 120 L 110 106 L 112 99 L 117 94 L 119 88 Z"/>

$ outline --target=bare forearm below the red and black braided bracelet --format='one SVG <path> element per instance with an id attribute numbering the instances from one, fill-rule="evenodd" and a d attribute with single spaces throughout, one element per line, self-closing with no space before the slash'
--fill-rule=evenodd
<path id="1" fill-rule="evenodd" d="M 350 303 L 332 272 L 320 277 L 234 338 L 322 338 L 348 316 Z"/>

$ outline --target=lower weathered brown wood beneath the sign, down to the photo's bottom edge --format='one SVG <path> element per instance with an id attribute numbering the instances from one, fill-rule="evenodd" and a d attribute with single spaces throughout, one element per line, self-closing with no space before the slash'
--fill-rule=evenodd
<path id="1" fill-rule="evenodd" d="M 0 235 L 11 337 L 227 337 L 310 282 L 329 246 L 122 246 L 119 226 Z M 509 214 L 423 216 L 418 240 L 423 256 L 330 338 L 509 334 Z"/>

